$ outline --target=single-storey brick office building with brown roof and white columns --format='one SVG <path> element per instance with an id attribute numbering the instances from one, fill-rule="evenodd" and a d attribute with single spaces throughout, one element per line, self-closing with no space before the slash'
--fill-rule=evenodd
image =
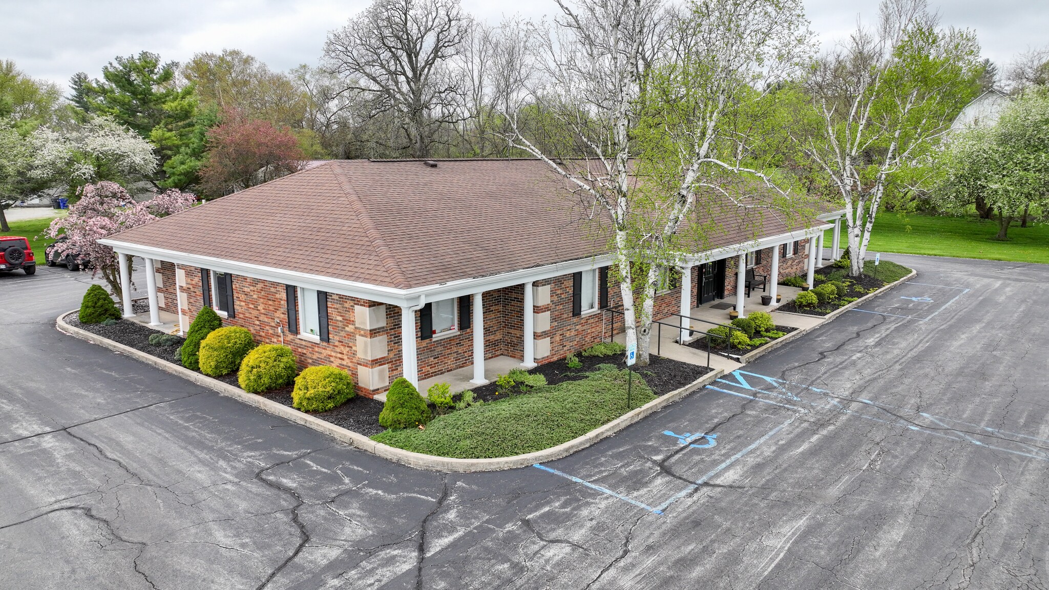
<path id="1" fill-rule="evenodd" d="M 484 382 L 486 359 L 534 366 L 607 334 L 612 257 L 566 189 L 532 160 L 333 161 L 103 243 L 125 271 L 126 256 L 146 259 L 153 323 L 163 311 L 185 328 L 212 307 L 303 366 L 346 368 L 371 397 L 470 365 Z M 655 317 L 733 296 L 741 264 L 800 274 L 822 229 L 838 235 L 840 211 L 789 226 L 724 201 L 704 209 L 719 230 L 683 253 Z"/>

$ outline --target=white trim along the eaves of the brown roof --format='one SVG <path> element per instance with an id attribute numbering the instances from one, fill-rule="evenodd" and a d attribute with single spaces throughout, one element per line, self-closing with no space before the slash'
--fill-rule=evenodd
<path id="1" fill-rule="evenodd" d="M 828 213 L 821 215 L 819 218 L 821 220 L 826 220 L 823 219 L 825 216 L 836 218 L 840 215 L 841 212 Z M 796 230 L 790 233 L 764 237 L 762 239 L 756 239 L 745 244 L 726 246 L 723 248 L 709 250 L 707 252 L 702 252 L 700 254 L 688 254 L 684 256 L 684 259 L 686 264 L 702 265 L 704 262 L 709 262 L 711 260 L 718 260 L 732 255 L 744 254 L 752 250 L 762 250 L 765 248 L 779 246 L 780 244 L 787 244 L 788 241 L 794 241 L 797 239 L 808 239 L 815 235 L 819 235 L 819 233 L 822 232 L 825 229 L 829 229 L 831 227 L 833 226 L 827 224 L 814 228 Z M 545 278 L 552 278 L 555 276 L 571 274 L 588 269 L 606 267 L 613 262 L 612 254 L 601 254 L 598 256 L 580 258 L 576 260 L 569 260 L 564 262 L 557 262 L 554 265 L 544 265 L 541 267 L 534 267 L 531 269 L 519 269 L 491 276 L 465 278 L 449 282 L 443 282 L 438 285 L 416 287 L 412 289 L 394 289 L 392 287 L 382 287 L 366 282 L 355 282 L 351 280 L 345 280 L 341 278 L 308 274 L 308 273 L 290 271 L 284 269 L 276 269 L 273 267 L 264 267 L 261 265 L 253 265 L 250 262 L 227 260 L 224 258 L 217 258 L 214 256 L 201 256 L 199 254 L 176 252 L 174 250 L 153 248 L 151 246 L 141 246 L 128 241 L 120 241 L 117 239 L 100 239 L 99 243 L 109 246 L 110 248 L 122 254 L 130 254 L 133 256 L 142 256 L 144 258 L 166 260 L 169 262 L 175 262 L 179 265 L 186 265 L 190 267 L 197 267 L 204 269 L 211 269 L 215 271 L 232 273 L 235 275 L 250 276 L 252 278 L 270 280 L 273 282 L 279 282 L 284 285 L 294 285 L 296 287 L 304 287 L 306 289 L 316 289 L 319 291 L 326 291 L 328 293 L 338 293 L 340 295 L 347 295 L 349 297 L 358 297 L 361 299 L 369 299 L 372 301 L 379 301 L 382 303 L 388 303 L 398 307 L 421 305 L 426 301 L 440 301 L 442 299 L 449 299 L 452 297 L 461 297 L 464 295 L 471 295 L 484 291 L 502 289 L 504 287 L 510 287 L 513 285 L 521 285 L 523 282 L 542 280 Z"/>

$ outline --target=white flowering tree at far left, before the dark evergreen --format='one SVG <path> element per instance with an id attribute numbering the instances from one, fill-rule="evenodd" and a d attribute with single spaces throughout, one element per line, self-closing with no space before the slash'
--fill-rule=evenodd
<path id="1" fill-rule="evenodd" d="M 156 172 L 153 146 L 108 117 L 91 115 L 68 130 L 42 127 L 30 136 L 36 156 L 31 175 L 70 196 L 91 183 L 128 185 Z"/>

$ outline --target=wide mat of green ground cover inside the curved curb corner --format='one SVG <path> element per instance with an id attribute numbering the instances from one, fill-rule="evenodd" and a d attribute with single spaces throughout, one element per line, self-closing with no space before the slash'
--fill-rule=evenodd
<path id="1" fill-rule="evenodd" d="M 391 429 L 372 440 L 436 455 L 479 459 L 541 450 L 605 424 L 627 412 L 627 372 L 601 365 L 579 381 L 536 387 L 434 418 L 425 430 Z M 656 398 L 642 379 L 634 379 L 630 407 Z M 387 401 L 389 396 L 387 395 Z"/>

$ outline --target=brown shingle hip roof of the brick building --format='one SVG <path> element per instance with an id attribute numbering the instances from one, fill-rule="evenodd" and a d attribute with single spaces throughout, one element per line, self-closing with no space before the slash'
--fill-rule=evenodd
<path id="1" fill-rule="evenodd" d="M 333 161 L 112 239 L 410 289 L 606 251 L 568 188 L 532 160 Z M 710 248 L 798 229 L 711 202 Z"/>

